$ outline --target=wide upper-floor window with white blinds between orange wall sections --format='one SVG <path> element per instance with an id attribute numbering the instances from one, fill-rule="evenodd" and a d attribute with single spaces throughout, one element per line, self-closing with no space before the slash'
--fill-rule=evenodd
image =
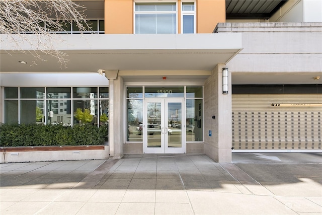
<path id="1" fill-rule="evenodd" d="M 135 3 L 135 34 L 176 34 L 176 3 Z"/>

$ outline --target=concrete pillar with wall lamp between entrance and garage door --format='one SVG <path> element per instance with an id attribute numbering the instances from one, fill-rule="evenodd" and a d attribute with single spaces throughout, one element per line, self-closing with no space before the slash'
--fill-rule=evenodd
<path id="1" fill-rule="evenodd" d="M 222 94 L 223 67 L 225 64 L 218 64 L 204 86 L 204 150 L 205 154 L 214 161 L 230 163 L 231 73 L 228 68 L 228 94 Z"/>

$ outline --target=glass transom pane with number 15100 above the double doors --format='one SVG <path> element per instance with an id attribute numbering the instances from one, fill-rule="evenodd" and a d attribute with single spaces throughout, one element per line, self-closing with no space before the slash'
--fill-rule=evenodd
<path id="1" fill-rule="evenodd" d="M 183 98 L 184 87 L 145 87 L 145 98 Z"/>

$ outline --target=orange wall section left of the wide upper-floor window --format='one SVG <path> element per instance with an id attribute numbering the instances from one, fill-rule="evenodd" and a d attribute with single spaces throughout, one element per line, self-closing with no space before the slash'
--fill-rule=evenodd
<path id="1" fill-rule="evenodd" d="M 133 1 L 105 0 L 105 33 L 133 34 Z"/>

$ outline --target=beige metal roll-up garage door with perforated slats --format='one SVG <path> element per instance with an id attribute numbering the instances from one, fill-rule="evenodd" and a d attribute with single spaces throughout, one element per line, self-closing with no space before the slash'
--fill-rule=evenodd
<path id="1" fill-rule="evenodd" d="M 321 121 L 321 94 L 233 94 L 233 152 L 320 152 Z"/>

